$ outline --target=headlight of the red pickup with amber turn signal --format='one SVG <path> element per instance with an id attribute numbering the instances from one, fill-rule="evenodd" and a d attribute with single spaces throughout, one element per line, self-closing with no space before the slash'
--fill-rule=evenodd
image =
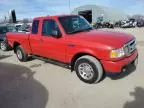
<path id="1" fill-rule="evenodd" d="M 125 50 L 123 47 L 116 50 L 112 50 L 110 53 L 110 58 L 121 58 L 123 56 L 125 56 Z"/>

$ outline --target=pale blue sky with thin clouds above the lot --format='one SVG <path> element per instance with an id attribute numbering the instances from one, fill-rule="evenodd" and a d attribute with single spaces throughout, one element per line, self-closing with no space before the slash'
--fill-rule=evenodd
<path id="1" fill-rule="evenodd" d="M 69 14 L 74 8 L 88 4 L 110 7 L 128 15 L 144 15 L 144 0 L 0 0 L 0 18 L 8 16 L 11 9 L 15 9 L 21 19 Z"/>

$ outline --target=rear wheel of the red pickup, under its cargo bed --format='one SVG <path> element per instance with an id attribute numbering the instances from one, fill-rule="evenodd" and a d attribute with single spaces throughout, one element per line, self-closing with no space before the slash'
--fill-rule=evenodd
<path id="1" fill-rule="evenodd" d="M 16 55 L 19 61 L 26 62 L 28 60 L 28 54 L 24 51 L 21 46 L 16 48 Z"/>

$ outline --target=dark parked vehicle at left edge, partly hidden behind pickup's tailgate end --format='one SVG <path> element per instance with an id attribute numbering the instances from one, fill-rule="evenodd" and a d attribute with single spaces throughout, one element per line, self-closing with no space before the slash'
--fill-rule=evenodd
<path id="1" fill-rule="evenodd" d="M 8 44 L 6 33 L 7 32 L 14 32 L 15 28 L 12 25 L 2 25 L 0 26 L 0 49 L 3 51 L 7 51 L 11 49 L 10 45 Z"/>

